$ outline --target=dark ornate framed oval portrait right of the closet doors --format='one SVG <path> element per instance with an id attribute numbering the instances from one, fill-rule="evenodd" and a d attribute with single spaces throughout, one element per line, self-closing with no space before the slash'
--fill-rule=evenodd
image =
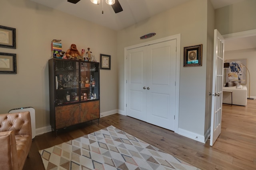
<path id="1" fill-rule="evenodd" d="M 202 44 L 184 47 L 183 66 L 202 66 Z"/>

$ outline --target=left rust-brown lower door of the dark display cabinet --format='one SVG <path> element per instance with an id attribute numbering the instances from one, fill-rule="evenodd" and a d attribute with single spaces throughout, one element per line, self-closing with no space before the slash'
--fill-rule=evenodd
<path id="1" fill-rule="evenodd" d="M 55 107 L 56 129 L 80 123 L 80 104 Z"/>

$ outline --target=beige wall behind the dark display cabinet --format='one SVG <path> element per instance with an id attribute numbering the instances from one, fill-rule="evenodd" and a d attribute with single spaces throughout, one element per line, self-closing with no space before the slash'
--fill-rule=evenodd
<path id="1" fill-rule="evenodd" d="M 90 47 L 97 61 L 111 55 L 111 70 L 100 70 L 100 112 L 116 111 L 117 33 L 106 27 L 36 4 L 30 0 L 1 0 L 0 25 L 16 28 L 17 74 L 0 74 L 0 113 L 18 107 L 34 107 L 36 128 L 50 125 L 48 59 L 52 39 L 62 39 L 63 50 L 72 43 Z"/>

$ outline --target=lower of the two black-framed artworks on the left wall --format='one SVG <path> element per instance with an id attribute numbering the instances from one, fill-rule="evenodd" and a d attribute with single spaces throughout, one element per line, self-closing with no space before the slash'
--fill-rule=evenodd
<path id="1" fill-rule="evenodd" d="M 16 54 L 0 53 L 0 74 L 16 73 Z"/>

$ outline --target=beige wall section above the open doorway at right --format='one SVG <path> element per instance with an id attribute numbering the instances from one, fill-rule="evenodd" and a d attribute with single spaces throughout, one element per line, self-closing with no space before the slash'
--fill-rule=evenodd
<path id="1" fill-rule="evenodd" d="M 215 10 L 215 28 L 222 35 L 256 29 L 256 0 L 245 0 Z"/>

